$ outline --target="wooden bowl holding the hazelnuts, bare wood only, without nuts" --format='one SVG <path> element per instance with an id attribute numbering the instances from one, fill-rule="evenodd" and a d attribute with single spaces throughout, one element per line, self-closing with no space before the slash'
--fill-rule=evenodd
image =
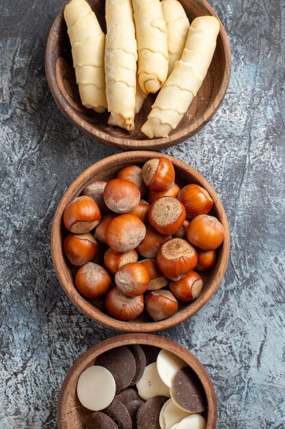
<path id="1" fill-rule="evenodd" d="M 180 303 L 178 311 L 176 314 L 169 319 L 154 322 L 150 319 L 150 316 L 146 312 L 146 310 L 133 321 L 119 321 L 114 319 L 113 317 L 107 315 L 104 312 L 102 297 L 97 299 L 88 300 L 77 291 L 74 286 L 74 272 L 72 272 L 72 266 L 70 262 L 68 262 L 63 249 L 63 238 L 66 235 L 66 229 L 64 228 L 64 224 L 62 221 L 62 215 L 64 209 L 74 198 L 78 197 L 85 186 L 88 184 L 95 182 L 96 180 L 104 180 L 108 181 L 111 178 L 116 176 L 116 173 L 126 167 L 129 164 L 137 164 L 143 165 L 147 160 L 151 158 L 158 158 L 162 155 L 157 152 L 150 151 L 133 151 L 120 153 L 113 156 L 109 156 L 104 160 L 96 162 L 96 164 L 92 165 L 89 169 L 85 170 L 76 180 L 70 185 L 67 189 L 66 193 L 62 197 L 62 200 L 59 202 L 57 210 L 55 212 L 55 217 L 53 219 L 53 228 L 51 232 L 51 254 L 53 257 L 53 264 L 55 266 L 55 271 L 59 278 L 59 282 L 61 282 L 64 291 L 68 294 L 72 302 L 77 305 L 88 317 L 91 317 L 94 321 L 102 323 L 109 328 L 113 328 L 116 330 L 121 330 L 125 332 L 155 332 L 158 330 L 163 330 L 167 328 L 171 328 L 172 326 L 181 323 L 188 317 L 191 317 L 202 308 L 211 298 L 211 296 L 217 291 L 217 288 L 223 278 L 223 275 L 226 271 L 226 267 L 228 264 L 228 256 L 230 252 L 230 233 L 228 230 L 228 221 L 226 218 L 225 210 L 223 210 L 223 205 L 219 200 L 219 197 L 213 190 L 212 186 L 208 184 L 206 179 L 198 173 L 192 167 L 185 164 L 172 156 L 167 156 L 172 163 L 174 164 L 174 168 L 176 170 L 176 183 L 180 187 L 185 186 L 189 183 L 197 183 L 208 191 L 214 201 L 214 210 L 213 215 L 219 219 L 222 223 L 225 238 L 223 240 L 222 245 L 219 247 L 217 252 L 217 261 L 213 269 L 202 273 L 203 278 L 203 288 L 202 293 L 198 299 L 187 303 Z M 102 257 L 103 254 L 99 255 Z M 102 263 L 99 260 L 99 263 Z"/>

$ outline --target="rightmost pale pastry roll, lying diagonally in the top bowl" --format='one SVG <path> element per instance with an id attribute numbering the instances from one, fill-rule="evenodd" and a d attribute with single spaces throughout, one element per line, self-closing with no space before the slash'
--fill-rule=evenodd
<path id="1" fill-rule="evenodd" d="M 215 52 L 219 21 L 214 16 L 194 19 L 185 49 L 169 75 L 141 131 L 149 138 L 174 130 L 198 93 Z"/>

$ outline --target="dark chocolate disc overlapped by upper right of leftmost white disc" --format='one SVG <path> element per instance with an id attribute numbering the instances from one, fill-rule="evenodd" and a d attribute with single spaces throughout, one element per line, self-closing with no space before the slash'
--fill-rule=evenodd
<path id="1" fill-rule="evenodd" d="M 100 354 L 96 358 L 96 365 L 109 369 L 115 379 L 117 390 L 128 387 L 135 377 L 135 358 L 124 346 Z"/>

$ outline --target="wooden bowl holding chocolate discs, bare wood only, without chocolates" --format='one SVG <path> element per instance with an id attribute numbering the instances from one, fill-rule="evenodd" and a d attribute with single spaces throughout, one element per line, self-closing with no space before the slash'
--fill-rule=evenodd
<path id="1" fill-rule="evenodd" d="M 99 354 L 107 352 L 115 347 L 130 344 L 153 345 L 161 349 L 169 350 L 185 360 L 187 365 L 195 371 L 202 382 L 208 402 L 208 415 L 206 429 L 215 429 L 217 424 L 217 397 L 215 389 L 206 369 L 202 363 L 188 350 L 174 341 L 163 336 L 151 334 L 124 334 L 114 336 L 94 345 L 79 358 L 68 371 L 62 384 L 57 403 L 58 429 L 83 429 L 86 417 L 91 412 L 81 405 L 77 397 L 77 381 L 87 367 L 94 365 Z"/>

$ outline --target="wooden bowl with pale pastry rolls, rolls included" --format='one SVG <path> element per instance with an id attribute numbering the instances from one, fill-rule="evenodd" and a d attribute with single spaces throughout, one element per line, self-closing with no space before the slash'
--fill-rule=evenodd
<path id="1" fill-rule="evenodd" d="M 226 31 L 205 0 L 70 0 L 45 54 L 66 118 L 122 150 L 193 136 L 223 101 L 230 64 Z"/>

